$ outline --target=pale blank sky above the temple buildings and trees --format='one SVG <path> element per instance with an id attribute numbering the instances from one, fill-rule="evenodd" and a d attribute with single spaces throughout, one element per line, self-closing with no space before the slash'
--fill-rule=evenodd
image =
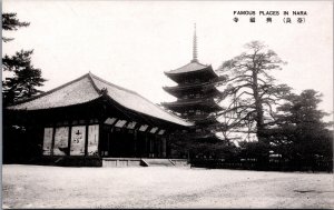
<path id="1" fill-rule="evenodd" d="M 287 62 L 274 72 L 277 82 L 296 93 L 322 92 L 320 108 L 333 112 L 332 1 L 3 0 L 2 11 L 30 22 L 28 28 L 3 32 L 14 40 L 2 43 L 2 53 L 33 49 L 32 63 L 48 79 L 43 91 L 90 71 L 155 103 L 174 101 L 163 87 L 176 83 L 164 72 L 191 60 L 196 22 L 199 62 L 216 70 L 240 54 L 245 43 L 264 41 Z M 256 22 L 234 11 L 255 11 Z M 267 17 L 272 23 L 266 23 Z M 304 22 L 297 23 L 297 18 Z"/>

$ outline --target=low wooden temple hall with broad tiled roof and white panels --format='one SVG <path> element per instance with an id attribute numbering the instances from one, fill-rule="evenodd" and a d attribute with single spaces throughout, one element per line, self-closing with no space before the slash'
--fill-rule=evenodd
<path id="1" fill-rule="evenodd" d="M 61 158 L 168 158 L 176 130 L 193 126 L 91 73 L 8 107 L 4 162 Z"/>

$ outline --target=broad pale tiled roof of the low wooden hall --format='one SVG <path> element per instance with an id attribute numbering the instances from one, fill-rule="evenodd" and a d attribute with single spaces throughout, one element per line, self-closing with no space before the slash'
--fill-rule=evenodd
<path id="1" fill-rule="evenodd" d="M 163 110 L 137 92 L 115 86 L 91 73 L 87 73 L 59 88 L 45 92 L 26 102 L 8 107 L 7 109 L 39 110 L 85 103 L 99 98 L 101 96 L 101 89 L 107 89 L 107 94 L 127 109 L 173 123 L 193 126 L 191 122 L 187 122 L 177 116 Z"/>

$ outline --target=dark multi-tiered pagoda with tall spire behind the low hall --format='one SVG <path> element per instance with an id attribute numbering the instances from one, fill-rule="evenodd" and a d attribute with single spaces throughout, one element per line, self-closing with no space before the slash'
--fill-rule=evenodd
<path id="1" fill-rule="evenodd" d="M 215 112 L 222 108 L 215 102 L 219 93 L 216 83 L 219 77 L 212 66 L 202 64 L 197 59 L 196 26 L 194 32 L 193 60 L 165 74 L 177 83 L 175 87 L 164 87 L 164 90 L 176 97 L 174 102 L 163 102 L 167 109 L 179 113 L 181 118 L 194 121 L 196 131 L 207 130 L 207 126 L 216 121 Z"/>

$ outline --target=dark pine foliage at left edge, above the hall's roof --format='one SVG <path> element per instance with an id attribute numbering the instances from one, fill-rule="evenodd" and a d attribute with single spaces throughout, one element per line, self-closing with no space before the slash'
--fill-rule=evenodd
<path id="1" fill-rule="evenodd" d="M 17 30 L 20 27 L 28 27 L 30 23 L 20 22 L 16 13 L 2 14 L 2 30 Z M 12 38 L 2 38 L 4 42 Z M 14 56 L 4 54 L 2 58 L 2 71 L 9 71 L 12 77 L 2 81 L 3 106 L 9 106 L 18 100 L 30 98 L 41 92 L 37 87 L 43 86 L 46 79 L 41 76 L 41 70 L 31 63 L 32 50 L 21 50 Z"/>

